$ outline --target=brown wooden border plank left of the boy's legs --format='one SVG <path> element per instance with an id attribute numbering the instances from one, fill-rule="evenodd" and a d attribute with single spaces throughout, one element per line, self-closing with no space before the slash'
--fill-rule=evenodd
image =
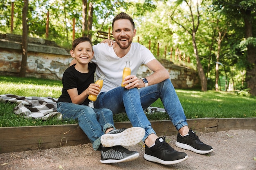
<path id="1" fill-rule="evenodd" d="M 56 148 L 90 142 L 77 124 L 0 128 L 0 152 Z"/>

